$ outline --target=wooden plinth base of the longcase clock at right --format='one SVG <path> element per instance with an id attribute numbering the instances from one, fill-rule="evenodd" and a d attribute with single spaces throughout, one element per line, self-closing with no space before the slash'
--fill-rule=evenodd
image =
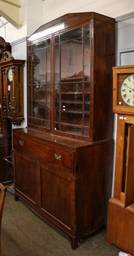
<path id="1" fill-rule="evenodd" d="M 107 241 L 134 256 L 134 204 L 124 208 L 121 201 L 110 198 Z"/>

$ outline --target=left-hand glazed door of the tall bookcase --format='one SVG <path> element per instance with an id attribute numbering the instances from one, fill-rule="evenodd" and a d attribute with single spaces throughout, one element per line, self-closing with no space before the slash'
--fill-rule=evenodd
<path id="1" fill-rule="evenodd" d="M 50 129 L 51 40 L 47 38 L 28 47 L 28 124 Z"/>

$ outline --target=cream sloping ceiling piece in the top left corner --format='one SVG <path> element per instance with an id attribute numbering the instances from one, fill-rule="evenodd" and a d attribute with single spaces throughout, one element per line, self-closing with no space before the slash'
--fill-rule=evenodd
<path id="1" fill-rule="evenodd" d="M 19 29 L 21 27 L 20 0 L 0 0 L 0 15 Z"/>

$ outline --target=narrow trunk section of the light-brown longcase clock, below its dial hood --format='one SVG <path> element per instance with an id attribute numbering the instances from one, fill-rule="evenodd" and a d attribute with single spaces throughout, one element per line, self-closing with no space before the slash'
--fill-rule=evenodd
<path id="1" fill-rule="evenodd" d="M 134 117 L 117 116 L 114 198 L 124 207 L 134 204 Z"/>

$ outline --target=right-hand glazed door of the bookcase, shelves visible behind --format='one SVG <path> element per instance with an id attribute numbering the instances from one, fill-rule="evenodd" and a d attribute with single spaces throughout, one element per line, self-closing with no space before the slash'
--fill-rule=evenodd
<path id="1" fill-rule="evenodd" d="M 90 25 L 54 36 L 56 132 L 89 137 Z"/>

